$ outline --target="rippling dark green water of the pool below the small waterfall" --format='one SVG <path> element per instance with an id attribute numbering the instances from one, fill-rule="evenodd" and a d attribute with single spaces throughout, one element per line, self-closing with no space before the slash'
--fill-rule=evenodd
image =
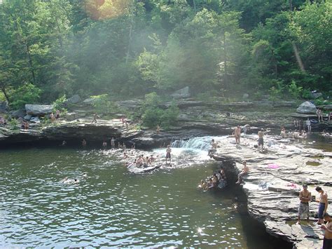
<path id="1" fill-rule="evenodd" d="M 134 175 L 99 150 L 64 148 L 0 161 L 0 247 L 249 246 L 233 196 L 196 189 L 213 164 Z"/>

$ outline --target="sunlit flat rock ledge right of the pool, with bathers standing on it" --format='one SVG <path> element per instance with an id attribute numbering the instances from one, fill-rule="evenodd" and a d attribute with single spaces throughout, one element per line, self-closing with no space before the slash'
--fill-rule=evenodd
<path id="1" fill-rule="evenodd" d="M 323 234 L 317 220 L 318 203 L 310 203 L 310 222 L 303 220 L 296 224 L 298 193 L 302 184 L 307 183 L 312 196 L 317 196 L 314 188 L 319 185 L 332 197 L 331 162 L 332 153 L 319 149 L 309 149 L 304 141 L 281 140 L 267 136 L 265 150 L 254 148 L 257 135 L 244 135 L 241 144 L 235 144 L 234 137 L 226 137 L 219 142 L 214 159 L 235 161 L 242 170 L 242 160 L 247 161 L 249 175 L 244 176 L 242 188 L 247 195 L 248 212 L 258 222 L 263 223 L 272 236 L 293 243 L 293 248 L 321 248 Z M 308 146 L 309 145 L 309 146 Z M 328 205 L 332 213 L 332 204 Z"/>

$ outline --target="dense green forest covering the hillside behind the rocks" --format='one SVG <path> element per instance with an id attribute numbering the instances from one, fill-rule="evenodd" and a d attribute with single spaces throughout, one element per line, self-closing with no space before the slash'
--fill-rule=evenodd
<path id="1" fill-rule="evenodd" d="M 331 17 L 327 0 L 3 0 L 0 99 L 327 97 Z"/>

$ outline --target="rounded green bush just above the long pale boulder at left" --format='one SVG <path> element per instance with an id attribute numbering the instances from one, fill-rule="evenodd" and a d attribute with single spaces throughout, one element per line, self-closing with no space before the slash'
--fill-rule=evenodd
<path id="1" fill-rule="evenodd" d="M 10 105 L 13 109 L 20 109 L 25 107 L 25 104 L 35 104 L 39 101 L 41 92 L 40 88 L 27 83 L 10 93 Z"/>

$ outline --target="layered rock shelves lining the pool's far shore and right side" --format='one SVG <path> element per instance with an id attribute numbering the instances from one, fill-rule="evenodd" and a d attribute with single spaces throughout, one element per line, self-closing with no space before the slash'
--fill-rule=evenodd
<path id="1" fill-rule="evenodd" d="M 134 112 L 139 102 L 123 102 L 121 105 Z M 98 119 L 96 124 L 92 124 L 90 114 L 77 110 L 53 123 L 32 123 L 28 130 L 13 126 L 0 127 L 0 147 L 36 142 L 58 145 L 62 140 L 80 146 L 83 139 L 101 147 L 103 140 L 109 142 L 111 137 L 115 137 L 116 142 L 125 142 L 127 147 L 135 143 L 138 149 L 147 149 L 160 147 L 173 140 L 230 135 L 237 125 L 249 124 L 248 133 L 254 134 L 260 128 L 279 130 L 282 125 L 294 129 L 294 119 L 314 117 L 312 114 L 295 114 L 296 105 L 293 102 L 212 104 L 183 100 L 179 102 L 179 107 L 181 114 L 177 127 L 161 130 L 160 133 L 141 127 L 137 122 L 123 126 L 120 119 Z M 312 129 L 331 131 L 332 122 L 313 123 Z M 254 148 L 256 139 L 256 135 L 245 135 L 240 146 L 235 146 L 234 137 L 217 140 L 219 149 L 214 159 L 234 161 L 239 170 L 242 167 L 240 162 L 247 160 L 250 173 L 243 189 L 248 199 L 249 215 L 264 224 L 269 234 L 289 241 L 297 248 L 319 248 L 322 238 L 319 227 L 305 222 L 303 225 L 295 224 L 298 188 L 306 182 L 310 184 L 312 194 L 317 196 L 314 186 L 319 184 L 332 194 L 331 152 L 309 149 L 301 141 L 278 140 L 273 136 L 266 137 L 265 143 L 268 144 L 270 140 L 271 146 L 261 152 Z M 331 211 L 331 206 L 328 210 Z M 316 203 L 310 204 L 310 211 L 314 217 Z"/>

